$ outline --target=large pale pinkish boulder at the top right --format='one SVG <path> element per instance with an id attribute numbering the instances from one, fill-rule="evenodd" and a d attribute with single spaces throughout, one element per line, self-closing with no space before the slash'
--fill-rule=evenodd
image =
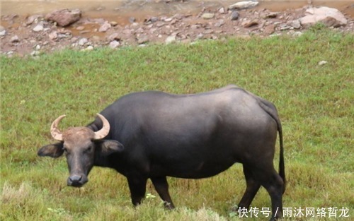
<path id="1" fill-rule="evenodd" d="M 308 8 L 305 12 L 307 16 L 299 18 L 299 21 L 304 26 L 311 26 L 315 23 L 324 23 L 329 27 L 339 27 L 348 23 L 343 14 L 336 8 L 319 7 Z"/>

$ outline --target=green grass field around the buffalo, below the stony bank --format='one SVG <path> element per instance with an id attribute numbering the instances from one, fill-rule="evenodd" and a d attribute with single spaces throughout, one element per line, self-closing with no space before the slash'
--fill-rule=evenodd
<path id="1" fill-rule="evenodd" d="M 322 60 L 328 63 L 319 66 Z M 128 92 L 192 93 L 231 83 L 278 107 L 288 181 L 284 207 L 292 216 L 315 208 L 315 217 L 285 220 L 353 220 L 353 34 L 316 26 L 297 38 L 65 50 L 38 59 L 1 57 L 0 66 L 0 220 L 239 220 L 230 208 L 244 193 L 241 165 L 210 179 L 169 179 L 178 208 L 166 211 L 151 182 L 135 209 L 125 178 L 113 170 L 94 168 L 89 183 L 74 189 L 66 186 L 64 157 L 37 156 L 42 145 L 55 142 L 50 124 L 61 114 L 67 114 L 63 129 L 84 126 Z M 264 189 L 252 206 L 270 208 Z"/>

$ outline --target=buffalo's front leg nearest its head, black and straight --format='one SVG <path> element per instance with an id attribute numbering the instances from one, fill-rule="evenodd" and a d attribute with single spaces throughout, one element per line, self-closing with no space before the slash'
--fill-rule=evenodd
<path id="1" fill-rule="evenodd" d="M 127 178 L 127 180 L 130 189 L 130 197 L 132 198 L 132 204 L 141 204 L 147 189 L 147 179 L 130 177 Z"/>

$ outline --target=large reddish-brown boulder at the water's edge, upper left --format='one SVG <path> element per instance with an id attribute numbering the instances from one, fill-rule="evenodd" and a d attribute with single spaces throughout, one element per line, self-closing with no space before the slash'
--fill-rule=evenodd
<path id="1" fill-rule="evenodd" d="M 75 9 L 59 9 L 53 11 L 52 13 L 47 13 L 45 16 L 46 20 L 51 20 L 56 22 L 59 26 L 67 26 L 75 23 L 81 18 L 81 10 L 79 8 Z"/>

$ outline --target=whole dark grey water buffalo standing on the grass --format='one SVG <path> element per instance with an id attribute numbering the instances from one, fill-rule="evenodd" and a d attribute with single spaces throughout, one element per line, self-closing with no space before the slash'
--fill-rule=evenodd
<path id="1" fill-rule="evenodd" d="M 260 186 L 269 193 L 272 220 L 282 216 L 285 167 L 282 128 L 275 106 L 235 85 L 190 95 L 135 92 L 106 107 L 86 127 L 59 131 L 59 143 L 40 156 L 65 155 L 69 186 L 88 181 L 93 166 L 110 167 L 127 177 L 132 203 L 138 205 L 151 179 L 166 208 L 174 208 L 166 177 L 212 177 L 235 162 L 243 165 L 246 191 L 239 208 L 249 208 Z M 280 137 L 279 174 L 273 166 Z"/>

